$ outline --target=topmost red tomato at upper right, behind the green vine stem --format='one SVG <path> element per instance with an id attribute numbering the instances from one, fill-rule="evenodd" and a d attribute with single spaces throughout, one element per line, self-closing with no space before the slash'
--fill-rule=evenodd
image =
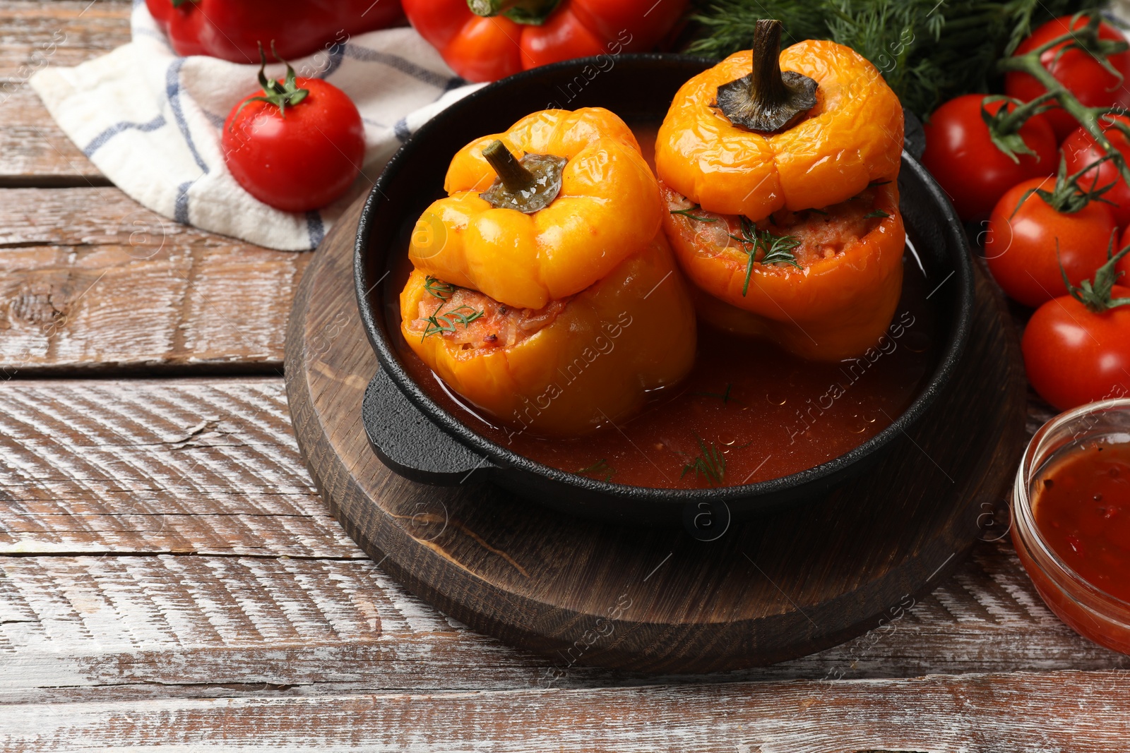
<path id="1" fill-rule="evenodd" d="M 1053 18 L 1022 42 L 1014 54 L 1023 55 L 1045 42 L 1051 42 L 1071 29 L 1081 28 L 1086 25 L 1086 16 L 1080 16 L 1075 24 L 1071 24 L 1071 16 Z M 1098 25 L 1098 36 L 1102 40 L 1119 42 L 1125 38 L 1105 23 Z M 1083 50 L 1068 50 L 1057 58 L 1062 47 L 1063 45 L 1059 44 L 1044 52 L 1040 55 L 1040 62 L 1079 102 L 1088 107 L 1130 106 L 1130 88 L 1127 87 L 1127 81 L 1130 81 L 1130 51 L 1120 52 L 1107 58 L 1114 70 L 1121 72 L 1125 79 L 1120 80 L 1119 77 L 1112 76 L 1104 69 L 1090 53 Z M 1043 85 L 1027 73 L 1009 71 L 1005 75 L 1005 94 L 1010 97 L 1015 97 L 1022 102 L 1029 102 L 1044 94 L 1044 91 L 1046 89 Z M 1067 111 L 1058 105 L 1044 113 L 1044 116 L 1052 124 L 1055 138 L 1060 140 L 1067 138 L 1079 125 Z"/>

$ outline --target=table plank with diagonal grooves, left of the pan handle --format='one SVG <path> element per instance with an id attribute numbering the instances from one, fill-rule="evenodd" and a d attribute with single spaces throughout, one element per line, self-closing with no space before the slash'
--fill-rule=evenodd
<path id="1" fill-rule="evenodd" d="M 279 379 L 0 389 L 0 553 L 364 555 L 302 467 Z"/>

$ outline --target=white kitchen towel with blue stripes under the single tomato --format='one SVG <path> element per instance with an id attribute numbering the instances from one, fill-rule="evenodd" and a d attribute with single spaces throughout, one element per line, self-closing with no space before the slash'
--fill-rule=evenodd
<path id="1" fill-rule="evenodd" d="M 103 174 L 177 222 L 286 251 L 315 247 L 341 212 L 372 187 L 397 148 L 443 107 L 473 91 L 411 28 L 341 35 L 294 60 L 298 76 L 323 78 L 354 100 L 365 123 L 365 164 L 353 189 L 305 214 L 254 199 L 224 165 L 228 112 L 259 89 L 258 65 L 177 58 L 145 2 L 134 0 L 132 41 L 75 68 L 32 78 L 63 132 Z M 267 67 L 281 78 L 282 64 Z"/>

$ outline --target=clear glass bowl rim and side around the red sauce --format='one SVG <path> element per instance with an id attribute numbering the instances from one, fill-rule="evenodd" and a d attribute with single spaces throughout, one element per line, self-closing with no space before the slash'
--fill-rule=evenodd
<path id="1" fill-rule="evenodd" d="M 1057 415 L 1042 426 L 1020 461 L 1012 487 L 1012 543 L 1048 607 L 1096 643 L 1130 654 L 1130 602 L 1075 572 L 1036 527 L 1032 488 L 1049 463 L 1096 439 L 1130 443 L 1130 400 L 1105 400 Z"/>

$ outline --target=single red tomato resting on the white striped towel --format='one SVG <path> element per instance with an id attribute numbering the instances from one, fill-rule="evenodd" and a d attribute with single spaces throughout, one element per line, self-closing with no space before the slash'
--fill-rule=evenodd
<path id="1" fill-rule="evenodd" d="M 353 184 L 365 157 L 365 126 L 345 91 L 321 79 L 293 78 L 308 94 L 285 112 L 255 102 L 236 105 L 224 123 L 227 168 L 247 193 L 287 212 L 330 203 Z"/>

